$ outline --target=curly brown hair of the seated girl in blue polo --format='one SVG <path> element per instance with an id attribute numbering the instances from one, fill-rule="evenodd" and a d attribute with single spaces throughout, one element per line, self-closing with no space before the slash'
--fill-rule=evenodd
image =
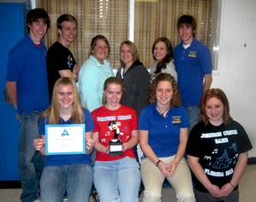
<path id="1" fill-rule="evenodd" d="M 158 83 L 161 81 L 170 82 L 170 84 L 173 88 L 173 95 L 170 100 L 170 108 L 181 106 L 182 101 L 181 101 L 178 84 L 177 84 L 175 78 L 171 74 L 166 74 L 166 73 L 160 73 L 160 74 L 156 75 L 156 79 L 152 82 L 152 85 L 151 85 L 149 102 L 152 104 L 157 101 L 156 92 L 157 92 Z"/>

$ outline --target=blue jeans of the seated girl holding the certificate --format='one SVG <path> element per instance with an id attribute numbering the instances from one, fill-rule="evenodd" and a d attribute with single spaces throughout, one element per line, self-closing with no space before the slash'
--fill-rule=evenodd
<path id="1" fill-rule="evenodd" d="M 92 188 L 92 166 L 71 164 L 45 167 L 41 180 L 41 201 L 61 202 L 65 191 L 68 202 L 86 202 Z"/>

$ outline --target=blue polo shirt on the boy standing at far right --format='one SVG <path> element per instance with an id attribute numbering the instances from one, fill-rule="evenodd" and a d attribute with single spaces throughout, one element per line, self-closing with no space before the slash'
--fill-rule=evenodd
<path id="1" fill-rule="evenodd" d="M 174 60 L 178 75 L 178 86 L 182 94 L 183 106 L 199 106 L 203 95 L 205 74 L 211 74 L 211 52 L 207 46 L 193 39 L 184 49 L 183 43 L 176 46 Z"/>

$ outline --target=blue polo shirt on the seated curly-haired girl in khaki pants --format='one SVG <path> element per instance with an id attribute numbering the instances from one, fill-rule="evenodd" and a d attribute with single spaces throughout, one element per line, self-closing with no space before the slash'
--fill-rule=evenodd
<path id="1" fill-rule="evenodd" d="M 164 117 L 159 114 L 156 104 L 150 104 L 140 112 L 138 129 L 148 131 L 148 144 L 158 157 L 170 157 L 178 150 L 180 129 L 188 126 L 183 107 L 170 109 Z"/>

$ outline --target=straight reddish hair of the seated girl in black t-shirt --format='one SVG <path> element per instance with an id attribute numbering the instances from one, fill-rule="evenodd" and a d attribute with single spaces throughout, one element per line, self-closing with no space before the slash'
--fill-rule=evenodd
<path id="1" fill-rule="evenodd" d="M 201 111 L 201 119 L 207 125 L 209 123 L 209 118 L 206 116 L 206 103 L 210 98 L 217 98 L 223 103 L 224 111 L 223 111 L 223 123 L 229 124 L 231 116 L 229 114 L 229 100 L 226 94 L 219 88 L 211 88 L 206 91 L 201 99 L 200 111 Z"/>

